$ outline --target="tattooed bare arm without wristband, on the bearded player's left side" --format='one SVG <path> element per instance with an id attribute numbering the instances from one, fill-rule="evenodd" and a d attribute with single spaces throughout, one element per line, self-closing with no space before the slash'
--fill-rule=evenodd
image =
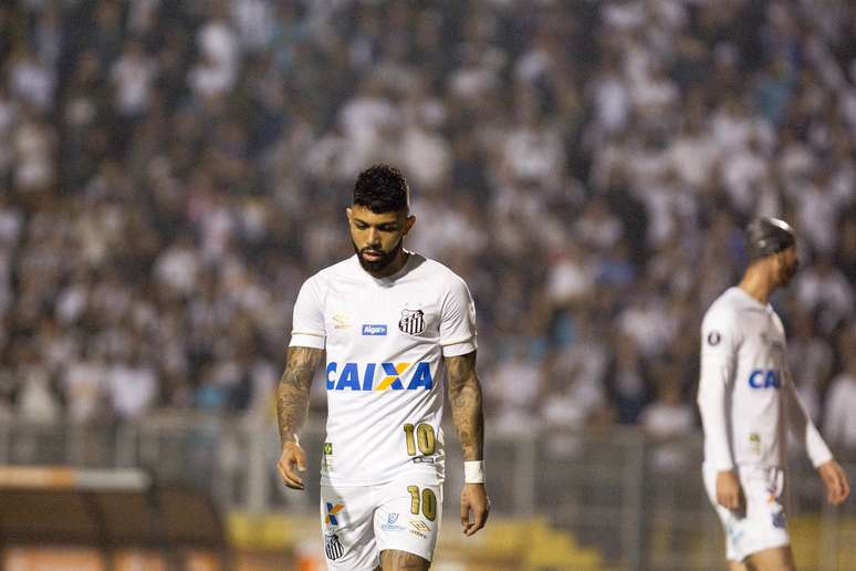
<path id="1" fill-rule="evenodd" d="M 294 442 L 303 426 L 309 407 L 312 377 L 315 376 L 324 351 L 312 347 L 289 347 L 285 372 L 276 387 L 276 418 L 282 443 Z"/>

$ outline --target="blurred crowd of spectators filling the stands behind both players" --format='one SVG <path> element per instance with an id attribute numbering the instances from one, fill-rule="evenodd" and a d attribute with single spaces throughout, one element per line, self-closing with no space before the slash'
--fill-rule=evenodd
<path id="1" fill-rule="evenodd" d="M 697 429 L 701 315 L 773 215 L 793 377 L 856 448 L 856 3 L 815 8 L 3 3 L 0 415 L 269 414 L 297 289 L 388 162 L 408 247 L 473 292 L 495 426 Z"/>

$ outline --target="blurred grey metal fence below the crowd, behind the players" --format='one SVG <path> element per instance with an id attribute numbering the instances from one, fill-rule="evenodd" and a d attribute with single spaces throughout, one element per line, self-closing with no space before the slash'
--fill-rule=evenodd
<path id="1" fill-rule="evenodd" d="M 447 497 L 457 498 L 462 460 L 453 429 L 446 434 Z M 723 569 L 722 532 L 701 484 L 700 435 L 654 443 L 633 428 L 488 434 L 493 513 L 545 515 L 623 570 Z M 322 442 L 322 426 L 304 430 L 310 458 L 321 457 Z M 168 415 L 114 426 L 0 422 L 0 464 L 144 467 L 160 481 L 202 488 L 225 509 L 314 513 L 317 463 L 310 461 L 305 491 L 288 490 L 274 468 L 279 449 L 272 421 Z M 856 481 L 856 464 L 845 469 Z M 843 531 L 854 532 L 845 522 L 856 521 L 856 501 L 825 506 L 822 482 L 804 456 L 794 455 L 789 474 L 789 515 L 800 522 L 792 533 L 816 551 L 801 569 L 856 568 L 856 538 Z"/>

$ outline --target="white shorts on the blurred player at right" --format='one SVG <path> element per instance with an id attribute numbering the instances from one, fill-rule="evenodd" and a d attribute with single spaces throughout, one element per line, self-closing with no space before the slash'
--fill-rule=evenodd
<path id="1" fill-rule="evenodd" d="M 704 488 L 725 531 L 725 557 L 743 561 L 752 553 L 791 543 L 782 505 L 784 473 L 781 468 L 740 466 L 738 477 L 747 501 L 745 513 L 717 503 L 717 473 L 704 467 Z"/>

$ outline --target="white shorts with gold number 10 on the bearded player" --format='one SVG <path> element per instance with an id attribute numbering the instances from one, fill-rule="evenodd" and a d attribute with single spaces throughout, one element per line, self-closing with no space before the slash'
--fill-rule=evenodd
<path id="1" fill-rule="evenodd" d="M 422 480 L 426 478 L 422 477 Z M 327 569 L 370 571 L 380 551 L 434 557 L 442 517 L 442 485 L 418 477 L 379 486 L 322 486 L 321 530 Z"/>

